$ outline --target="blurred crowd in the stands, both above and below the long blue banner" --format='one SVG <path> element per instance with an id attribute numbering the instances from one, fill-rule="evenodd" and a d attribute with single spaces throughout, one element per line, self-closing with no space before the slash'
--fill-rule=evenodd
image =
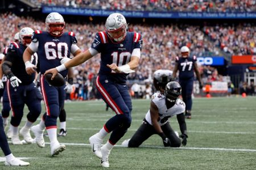
<path id="1" fill-rule="evenodd" d="M 82 1 L 82 0 L 41 0 L 33 1 L 40 5 L 62 5 L 102 9 L 157 10 L 157 11 L 256 11 L 255 1 Z M 45 30 L 44 20 L 35 20 L 29 16 L 16 16 L 11 13 L 0 14 L 0 52 L 13 41 L 16 32 L 23 27 Z M 65 19 L 65 16 L 64 16 Z M 72 23 L 66 21 L 65 31 L 76 33 L 79 47 L 85 51 L 98 31 L 105 29 L 104 23 Z M 229 56 L 229 54 L 256 54 L 256 26 L 253 23 L 238 24 L 186 24 L 165 23 L 148 24 L 146 22 L 129 24 L 129 31 L 141 33 L 143 49 L 140 65 L 135 73 L 128 76 L 129 87 L 133 97 L 147 98 L 154 92 L 151 87 L 152 74 L 158 69 L 174 69 L 175 57 L 180 55 L 181 46 L 191 49 L 191 56 Z M 39 56 L 40 57 L 40 56 Z M 100 68 L 100 55 L 93 57 L 82 65 L 73 68 L 75 72 L 74 90 L 68 99 L 97 99 L 94 86 Z M 214 67 L 200 65 L 204 84 L 212 81 L 232 82 L 228 76 L 222 76 Z M 133 84 L 135 86 L 132 88 Z M 137 86 L 138 84 L 138 86 Z M 137 87 L 136 87 L 137 86 Z M 234 86 L 234 85 L 233 85 Z M 254 95 L 254 85 L 240 83 L 238 91 L 246 90 Z M 135 88 L 136 87 L 136 88 Z M 137 90 L 139 89 L 139 90 Z"/>

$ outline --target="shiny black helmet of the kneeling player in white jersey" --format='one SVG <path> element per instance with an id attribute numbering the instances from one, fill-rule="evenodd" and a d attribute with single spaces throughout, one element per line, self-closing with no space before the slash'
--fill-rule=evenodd
<path id="1" fill-rule="evenodd" d="M 166 84 L 166 89 L 164 90 L 164 95 L 166 100 L 171 103 L 175 103 L 181 95 L 181 86 L 178 82 L 169 82 Z"/>

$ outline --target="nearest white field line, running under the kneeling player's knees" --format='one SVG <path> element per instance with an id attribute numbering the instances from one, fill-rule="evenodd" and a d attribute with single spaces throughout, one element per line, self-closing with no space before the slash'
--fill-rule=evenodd
<path id="1" fill-rule="evenodd" d="M 49 145 L 49 142 L 46 142 Z M 90 146 L 89 143 L 61 143 L 63 145 L 70 145 L 70 146 Z M 115 145 L 115 147 L 125 147 L 122 145 Z M 163 146 L 139 146 L 139 147 L 147 147 L 147 148 L 171 148 L 171 147 L 163 147 Z M 171 148 L 172 149 L 172 148 Z M 213 150 L 213 151 L 240 151 L 240 152 L 256 152 L 256 150 L 251 149 L 243 149 L 243 148 L 211 148 L 211 147 L 179 147 L 174 149 L 181 149 L 181 150 Z"/>

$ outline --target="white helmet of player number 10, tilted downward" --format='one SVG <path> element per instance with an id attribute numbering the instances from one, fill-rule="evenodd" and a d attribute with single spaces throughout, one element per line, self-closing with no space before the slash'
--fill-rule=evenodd
<path id="1" fill-rule="evenodd" d="M 119 13 L 110 14 L 106 19 L 105 28 L 111 40 L 113 39 L 115 42 L 123 41 L 127 32 L 125 16 Z"/>

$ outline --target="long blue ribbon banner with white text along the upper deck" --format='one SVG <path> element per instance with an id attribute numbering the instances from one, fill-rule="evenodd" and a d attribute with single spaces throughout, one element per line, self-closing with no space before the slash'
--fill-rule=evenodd
<path id="1" fill-rule="evenodd" d="M 73 8 L 60 6 L 42 6 L 43 13 L 59 12 L 68 15 L 108 16 L 119 12 L 130 18 L 196 18 L 196 19 L 256 19 L 256 12 L 154 12 L 154 11 L 123 11 L 96 10 L 89 8 Z"/>

